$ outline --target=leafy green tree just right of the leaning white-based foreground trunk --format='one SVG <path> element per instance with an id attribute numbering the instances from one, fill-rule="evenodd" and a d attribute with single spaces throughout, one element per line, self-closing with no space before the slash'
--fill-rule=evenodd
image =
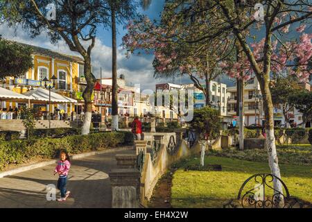
<path id="1" fill-rule="evenodd" d="M 293 105 L 289 103 L 289 97 L 297 92 L 300 92 L 300 87 L 297 84 L 296 77 L 277 76 L 275 82 L 271 82 L 270 91 L 272 94 L 273 105 L 281 105 L 285 122 L 288 126 L 290 126 L 288 112 L 293 109 Z"/>

